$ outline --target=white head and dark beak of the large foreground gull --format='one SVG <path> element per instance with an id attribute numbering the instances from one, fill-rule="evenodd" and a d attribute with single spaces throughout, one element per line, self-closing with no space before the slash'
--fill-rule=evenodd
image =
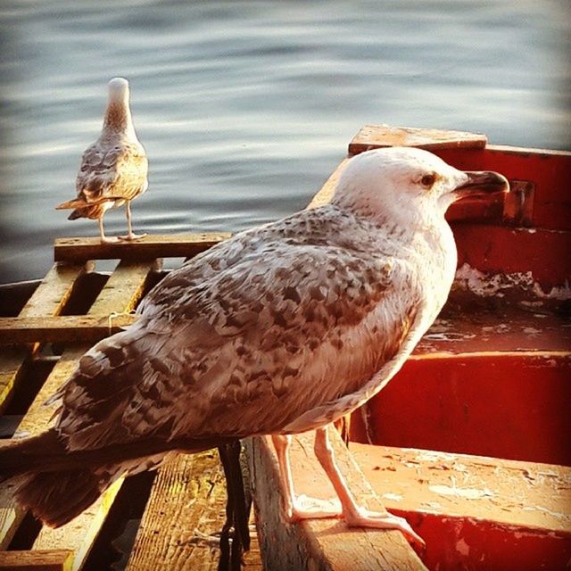
<path id="1" fill-rule="evenodd" d="M 421 149 L 389 147 L 360 153 L 343 170 L 333 203 L 356 214 L 407 227 L 442 221 L 467 195 L 505 191 L 493 172 L 463 172 Z"/>

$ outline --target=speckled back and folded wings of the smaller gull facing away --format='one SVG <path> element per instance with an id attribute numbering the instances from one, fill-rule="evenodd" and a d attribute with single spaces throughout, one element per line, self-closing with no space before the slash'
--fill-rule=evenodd
<path id="1" fill-rule="evenodd" d="M 148 162 L 138 145 L 90 146 L 83 154 L 76 188 L 88 204 L 132 200 L 145 191 Z"/>

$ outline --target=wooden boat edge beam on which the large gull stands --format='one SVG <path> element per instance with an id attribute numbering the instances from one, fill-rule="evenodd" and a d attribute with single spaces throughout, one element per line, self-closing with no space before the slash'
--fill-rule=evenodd
<path id="1" fill-rule="evenodd" d="M 357 501 L 368 509 L 384 511 L 339 435 L 335 430 L 331 430 L 330 435 L 337 463 Z M 321 500 L 335 498 L 333 487 L 315 459 L 312 448 L 312 434 L 294 437 L 290 455 L 292 466 L 295 467 L 295 492 Z M 338 519 L 286 523 L 280 509 L 284 491 L 269 437 L 248 439 L 246 451 L 255 491 L 258 537 L 266 571 L 426 570 L 400 532 L 349 529 L 343 520 Z"/>

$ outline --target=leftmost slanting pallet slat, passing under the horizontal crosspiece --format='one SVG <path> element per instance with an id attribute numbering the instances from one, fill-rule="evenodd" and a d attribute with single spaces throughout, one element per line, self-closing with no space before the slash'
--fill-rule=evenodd
<path id="1" fill-rule="evenodd" d="M 76 279 L 91 265 L 56 263 L 20 312 L 20 317 L 51 317 L 58 315 L 70 299 Z M 21 374 L 26 352 L 0 349 L 0 412 L 10 401 Z"/>

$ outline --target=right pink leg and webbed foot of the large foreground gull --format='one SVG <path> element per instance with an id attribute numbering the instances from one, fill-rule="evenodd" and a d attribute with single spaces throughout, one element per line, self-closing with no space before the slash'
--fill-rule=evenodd
<path id="1" fill-rule="evenodd" d="M 424 546 L 425 542 L 410 527 L 409 522 L 403 517 L 393 516 L 393 514 L 385 511 L 374 512 L 362 508 L 357 504 L 355 498 L 347 486 L 339 467 L 335 462 L 335 454 L 329 436 L 327 434 L 327 426 L 318 428 L 315 431 L 315 455 L 319 460 L 319 464 L 325 470 L 327 477 L 333 484 L 335 492 L 341 501 L 343 507 L 343 518 L 347 525 L 351 527 L 377 527 L 381 529 L 398 529 L 411 542 L 418 542 Z"/>

